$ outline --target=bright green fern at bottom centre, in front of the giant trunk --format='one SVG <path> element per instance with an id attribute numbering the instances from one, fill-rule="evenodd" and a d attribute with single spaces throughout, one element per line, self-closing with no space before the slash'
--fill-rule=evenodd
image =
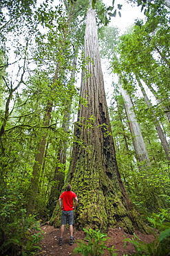
<path id="1" fill-rule="evenodd" d="M 109 255 L 116 256 L 117 253 L 114 252 L 114 246 L 107 248 L 105 242 L 109 239 L 107 235 L 100 232 L 100 230 L 89 230 L 83 228 L 86 232 L 86 237 L 84 240 L 78 240 L 78 247 L 74 248 L 74 254 L 81 253 L 83 256 L 100 256 L 104 252 L 103 250 L 108 250 Z M 87 241 L 87 243 L 85 242 Z"/>

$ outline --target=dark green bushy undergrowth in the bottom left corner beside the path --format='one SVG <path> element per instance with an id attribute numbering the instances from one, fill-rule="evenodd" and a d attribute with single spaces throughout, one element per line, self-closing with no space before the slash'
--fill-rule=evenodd
<path id="1" fill-rule="evenodd" d="M 43 238 L 35 216 L 26 216 L 23 195 L 6 191 L 0 199 L 0 253 L 1 255 L 34 255 Z"/>

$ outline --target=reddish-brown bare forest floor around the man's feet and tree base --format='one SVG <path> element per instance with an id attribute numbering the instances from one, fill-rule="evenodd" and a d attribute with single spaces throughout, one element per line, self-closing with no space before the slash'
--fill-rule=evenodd
<path id="1" fill-rule="evenodd" d="M 74 244 L 70 246 L 69 229 L 66 228 L 63 235 L 63 245 L 59 246 L 59 228 L 54 228 L 53 226 L 45 225 L 41 226 L 41 230 L 43 230 L 44 232 L 43 239 L 39 244 L 39 246 L 41 247 L 41 251 L 39 251 L 39 253 L 36 254 L 40 256 L 73 255 L 74 248 L 78 246 L 76 244 L 76 240 L 85 238 L 85 233 L 83 231 L 74 229 Z M 144 241 L 146 243 L 151 243 L 151 241 L 153 241 L 154 239 L 153 235 L 145 235 L 139 231 L 136 231 L 135 234 L 141 239 L 141 241 Z M 115 253 L 117 253 L 118 256 L 123 256 L 123 254 L 131 255 L 135 253 L 136 250 L 134 246 L 132 244 L 127 243 L 127 246 L 124 248 L 125 241 L 123 241 L 123 239 L 131 238 L 133 237 L 133 235 L 125 233 L 121 228 L 110 228 L 107 235 L 108 237 L 110 237 L 110 239 L 106 242 L 106 245 L 108 247 L 114 246 L 114 249 L 116 249 Z M 80 253 L 76 253 L 74 255 L 81 256 Z M 103 255 L 107 256 L 109 255 L 109 253 L 104 252 Z"/>

